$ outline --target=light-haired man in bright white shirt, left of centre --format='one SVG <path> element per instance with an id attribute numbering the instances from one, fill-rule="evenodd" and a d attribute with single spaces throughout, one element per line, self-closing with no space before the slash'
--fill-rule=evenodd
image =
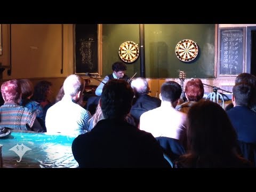
<path id="1" fill-rule="evenodd" d="M 61 133 L 77 137 L 89 130 L 89 111 L 78 105 L 82 99 L 85 81 L 81 76 L 69 75 L 64 83 L 63 98 L 47 110 L 45 125 L 47 133 Z"/>

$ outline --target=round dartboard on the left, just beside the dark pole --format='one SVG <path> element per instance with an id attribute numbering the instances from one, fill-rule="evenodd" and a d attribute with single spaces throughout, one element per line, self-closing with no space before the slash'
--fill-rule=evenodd
<path id="1" fill-rule="evenodd" d="M 125 62 L 133 62 L 139 57 L 138 44 L 127 41 L 119 47 L 119 57 Z"/>

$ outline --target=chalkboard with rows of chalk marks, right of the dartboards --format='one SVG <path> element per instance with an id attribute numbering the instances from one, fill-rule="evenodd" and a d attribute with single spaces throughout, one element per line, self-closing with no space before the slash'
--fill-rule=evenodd
<path id="1" fill-rule="evenodd" d="M 219 29 L 219 75 L 244 72 L 245 28 Z"/>

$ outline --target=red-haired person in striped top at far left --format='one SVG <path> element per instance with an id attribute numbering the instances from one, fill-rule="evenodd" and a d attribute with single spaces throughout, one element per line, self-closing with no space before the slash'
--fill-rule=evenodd
<path id="1" fill-rule="evenodd" d="M 27 107 L 19 105 L 21 87 L 17 79 L 4 82 L 1 93 L 4 105 L 0 107 L 0 126 L 15 130 L 43 132 L 36 114 Z"/>

